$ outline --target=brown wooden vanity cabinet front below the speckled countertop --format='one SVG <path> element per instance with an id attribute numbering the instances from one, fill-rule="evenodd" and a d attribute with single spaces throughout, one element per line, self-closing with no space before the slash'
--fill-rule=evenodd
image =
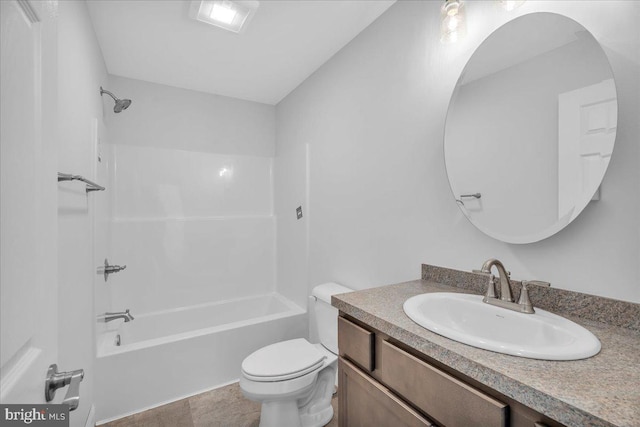
<path id="1" fill-rule="evenodd" d="M 563 427 L 341 313 L 340 427 Z"/>

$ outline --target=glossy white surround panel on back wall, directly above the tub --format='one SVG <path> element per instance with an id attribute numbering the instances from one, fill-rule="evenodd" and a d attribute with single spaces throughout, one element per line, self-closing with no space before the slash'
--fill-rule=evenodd
<path id="1" fill-rule="evenodd" d="M 129 112 L 129 111 L 127 111 Z M 272 159 L 113 146 L 108 283 L 134 315 L 274 292 Z"/>

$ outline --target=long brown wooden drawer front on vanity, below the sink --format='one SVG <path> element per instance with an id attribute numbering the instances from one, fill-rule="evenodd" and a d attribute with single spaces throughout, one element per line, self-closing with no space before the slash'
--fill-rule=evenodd
<path id="1" fill-rule="evenodd" d="M 380 341 L 376 376 L 439 424 L 447 427 L 504 427 L 508 406 L 412 356 Z"/>

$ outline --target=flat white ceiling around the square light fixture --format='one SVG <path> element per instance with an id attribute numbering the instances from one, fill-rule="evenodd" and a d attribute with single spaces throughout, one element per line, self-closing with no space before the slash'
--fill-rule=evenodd
<path id="1" fill-rule="evenodd" d="M 189 0 L 87 2 L 110 74 L 277 104 L 395 0 L 262 0 L 241 34 Z"/>

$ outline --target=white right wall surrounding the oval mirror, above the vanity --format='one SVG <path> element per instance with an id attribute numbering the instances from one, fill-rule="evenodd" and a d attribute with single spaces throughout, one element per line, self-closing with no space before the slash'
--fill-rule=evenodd
<path id="1" fill-rule="evenodd" d="M 506 12 L 467 2 L 467 38 L 439 42 L 441 2 L 397 2 L 277 106 L 277 194 L 298 189 L 301 147 L 309 149 L 309 238 L 279 227 L 284 287 L 337 281 L 361 289 L 420 276 L 423 262 L 463 270 L 497 257 L 516 279 L 640 302 L 640 3 L 529 1 Z M 602 44 L 618 89 L 616 148 L 592 203 L 560 233 L 511 245 L 476 230 L 449 190 L 443 129 L 449 99 L 474 49 L 515 16 L 564 14 Z M 295 163 L 295 164 L 294 164 Z M 296 190 L 297 191 L 297 190 Z M 298 200 L 276 197 L 285 217 Z M 523 209 L 535 208 L 523 206 Z M 285 267 L 284 269 L 282 267 Z"/>

